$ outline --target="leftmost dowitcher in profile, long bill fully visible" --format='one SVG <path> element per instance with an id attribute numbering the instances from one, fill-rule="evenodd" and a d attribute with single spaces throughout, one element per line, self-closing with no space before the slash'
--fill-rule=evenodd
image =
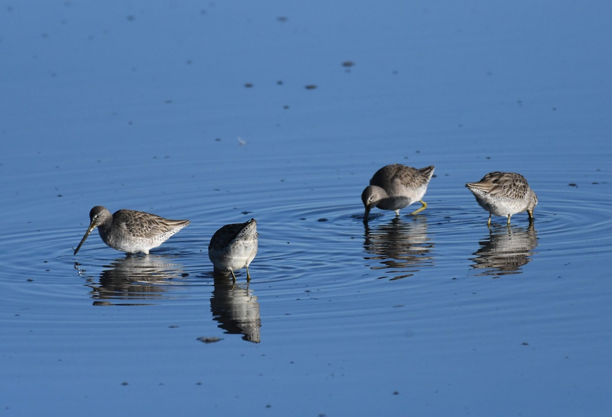
<path id="1" fill-rule="evenodd" d="M 75 249 L 78 252 L 94 228 L 100 238 L 113 249 L 135 254 L 160 246 L 170 236 L 189 224 L 189 220 L 169 220 L 143 211 L 121 209 L 111 214 L 102 206 L 89 211 L 89 227 Z"/>

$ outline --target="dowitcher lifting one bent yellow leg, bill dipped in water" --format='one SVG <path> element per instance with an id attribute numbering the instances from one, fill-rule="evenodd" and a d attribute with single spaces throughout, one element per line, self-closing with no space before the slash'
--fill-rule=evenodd
<path id="1" fill-rule="evenodd" d="M 361 194 L 361 201 L 365 206 L 364 223 L 368 222 L 368 216 L 373 207 L 393 210 L 396 216 L 400 215 L 400 209 L 415 201 L 420 201 L 422 206 L 410 214 L 417 214 L 427 208 L 423 196 L 427 191 L 433 170 L 435 170 L 433 165 L 417 170 L 394 163 L 376 171 L 370 179 L 370 185 L 365 187 Z"/>

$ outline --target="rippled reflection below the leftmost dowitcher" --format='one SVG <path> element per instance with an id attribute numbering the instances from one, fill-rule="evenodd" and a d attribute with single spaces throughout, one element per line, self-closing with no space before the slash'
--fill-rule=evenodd
<path id="1" fill-rule="evenodd" d="M 75 263 L 75 268 L 83 274 L 79 263 Z M 91 298 L 97 300 L 96 306 L 145 306 L 151 303 L 135 301 L 168 298 L 165 294 L 168 287 L 155 284 L 169 284 L 183 272 L 181 265 L 162 255 L 126 255 L 104 268 L 107 269 L 100 274 L 99 283 L 88 285 L 92 288 Z"/>

